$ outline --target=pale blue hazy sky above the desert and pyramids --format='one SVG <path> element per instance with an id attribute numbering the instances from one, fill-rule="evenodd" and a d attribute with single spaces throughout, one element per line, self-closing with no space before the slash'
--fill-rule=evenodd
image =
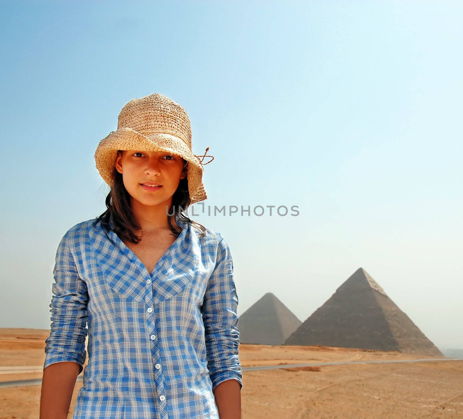
<path id="1" fill-rule="evenodd" d="M 304 321 L 363 267 L 439 348 L 463 348 L 461 2 L 2 12 L 0 327 L 50 327 L 57 245 L 106 209 L 94 150 L 157 92 L 215 156 L 206 206 L 299 206 L 191 216 L 232 248 L 238 315 L 273 292 Z"/>

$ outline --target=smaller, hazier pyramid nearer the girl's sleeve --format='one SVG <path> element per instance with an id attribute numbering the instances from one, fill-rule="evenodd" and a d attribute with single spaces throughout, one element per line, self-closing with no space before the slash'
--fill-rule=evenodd
<path id="1" fill-rule="evenodd" d="M 282 345 L 302 322 L 271 292 L 238 318 L 240 343 Z"/>

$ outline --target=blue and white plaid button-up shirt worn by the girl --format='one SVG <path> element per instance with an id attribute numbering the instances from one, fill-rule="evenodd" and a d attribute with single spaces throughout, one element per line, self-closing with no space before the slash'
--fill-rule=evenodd
<path id="1" fill-rule="evenodd" d="M 74 419 L 218 419 L 213 389 L 243 386 L 230 248 L 178 224 L 152 273 L 97 218 L 60 241 L 44 369 L 72 361 L 81 373 L 88 333 Z"/>

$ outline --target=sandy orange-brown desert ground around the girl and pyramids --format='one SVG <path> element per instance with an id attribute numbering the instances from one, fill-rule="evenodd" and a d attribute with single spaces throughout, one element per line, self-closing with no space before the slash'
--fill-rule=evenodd
<path id="1" fill-rule="evenodd" d="M 0 329 L 0 381 L 41 379 L 48 330 Z M 432 358 L 331 347 L 240 345 L 242 418 L 463 418 L 463 361 L 325 365 L 302 362 Z M 23 368 L 11 374 L 13 366 Z M 8 368 L 10 367 L 10 368 Z M 75 386 L 68 418 L 72 418 Z M 40 386 L 0 388 L 0 418 L 38 418 Z"/>

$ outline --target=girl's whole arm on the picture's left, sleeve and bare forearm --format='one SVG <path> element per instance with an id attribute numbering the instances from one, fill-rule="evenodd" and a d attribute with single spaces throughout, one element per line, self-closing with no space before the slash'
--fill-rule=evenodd
<path id="1" fill-rule="evenodd" d="M 69 233 L 69 232 L 68 232 Z M 50 336 L 45 340 L 40 418 L 66 418 L 77 376 L 87 356 L 87 285 L 79 277 L 66 233 L 53 269 Z"/>

